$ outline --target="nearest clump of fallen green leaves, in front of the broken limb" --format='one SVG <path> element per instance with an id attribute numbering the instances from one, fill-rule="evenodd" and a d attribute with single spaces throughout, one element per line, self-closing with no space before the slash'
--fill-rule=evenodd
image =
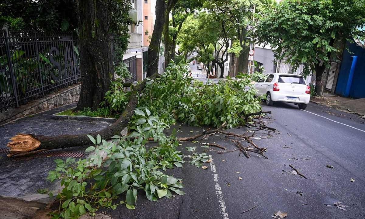
<path id="1" fill-rule="evenodd" d="M 157 201 L 161 197 L 172 197 L 172 192 L 183 195 L 181 180 L 168 176 L 158 169 L 165 170 L 184 163 L 181 152 L 176 150 L 174 137 L 163 134 L 165 124 L 158 116 L 136 110 L 139 122 L 137 130 L 127 137 L 114 136 L 111 142 L 88 135 L 94 146 L 86 152 L 95 152 L 87 159 L 66 161 L 57 159 L 55 170 L 49 172 L 48 180 L 61 178 L 64 186 L 57 199 L 60 209 L 54 216 L 78 218 L 80 215 L 94 213 L 99 207 L 115 209 L 126 204 L 134 209 L 137 202 L 137 190 L 142 189 L 147 199 Z M 143 122 L 142 122 L 143 119 Z M 146 150 L 149 137 L 159 142 L 158 146 Z M 104 151 L 102 156 L 101 151 Z M 113 200 L 125 193 L 125 201 L 113 203 Z"/>

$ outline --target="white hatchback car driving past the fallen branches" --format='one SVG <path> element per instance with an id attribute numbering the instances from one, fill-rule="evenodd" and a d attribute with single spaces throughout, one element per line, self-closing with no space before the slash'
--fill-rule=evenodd
<path id="1" fill-rule="evenodd" d="M 268 73 L 266 76 L 265 81 L 259 80 L 254 86 L 258 96 L 267 94 L 267 105 L 280 101 L 295 103 L 302 110 L 307 107 L 311 98 L 311 88 L 303 76 L 281 73 Z"/>

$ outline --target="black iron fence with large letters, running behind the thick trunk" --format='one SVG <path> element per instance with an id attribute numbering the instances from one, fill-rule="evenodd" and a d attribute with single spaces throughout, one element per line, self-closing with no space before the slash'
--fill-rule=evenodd
<path id="1" fill-rule="evenodd" d="M 68 33 L 3 30 L 0 34 L 0 112 L 80 81 L 77 42 Z M 115 64 L 122 60 L 118 48 L 118 37 L 111 35 Z M 135 71 L 135 61 L 129 69 Z"/>

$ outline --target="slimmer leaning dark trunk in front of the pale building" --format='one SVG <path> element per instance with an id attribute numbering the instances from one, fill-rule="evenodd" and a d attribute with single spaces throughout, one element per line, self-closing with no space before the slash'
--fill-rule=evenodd
<path id="1" fill-rule="evenodd" d="M 156 21 L 148 49 L 147 77 L 150 77 L 154 73 L 158 72 L 158 60 L 160 59 L 159 53 L 162 37 L 162 28 L 164 27 L 165 23 L 165 16 L 162 12 L 165 11 L 165 8 L 165 0 L 156 1 Z"/>

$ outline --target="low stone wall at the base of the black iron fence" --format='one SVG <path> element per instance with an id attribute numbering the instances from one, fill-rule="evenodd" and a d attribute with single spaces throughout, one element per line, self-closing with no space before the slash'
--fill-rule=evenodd
<path id="1" fill-rule="evenodd" d="M 50 93 L 42 98 L 33 100 L 27 104 L 20 105 L 19 108 L 9 108 L 7 112 L 0 113 L 0 126 L 38 112 L 50 110 L 55 107 L 77 102 L 80 96 L 81 84 L 76 84 L 55 93 Z"/>

